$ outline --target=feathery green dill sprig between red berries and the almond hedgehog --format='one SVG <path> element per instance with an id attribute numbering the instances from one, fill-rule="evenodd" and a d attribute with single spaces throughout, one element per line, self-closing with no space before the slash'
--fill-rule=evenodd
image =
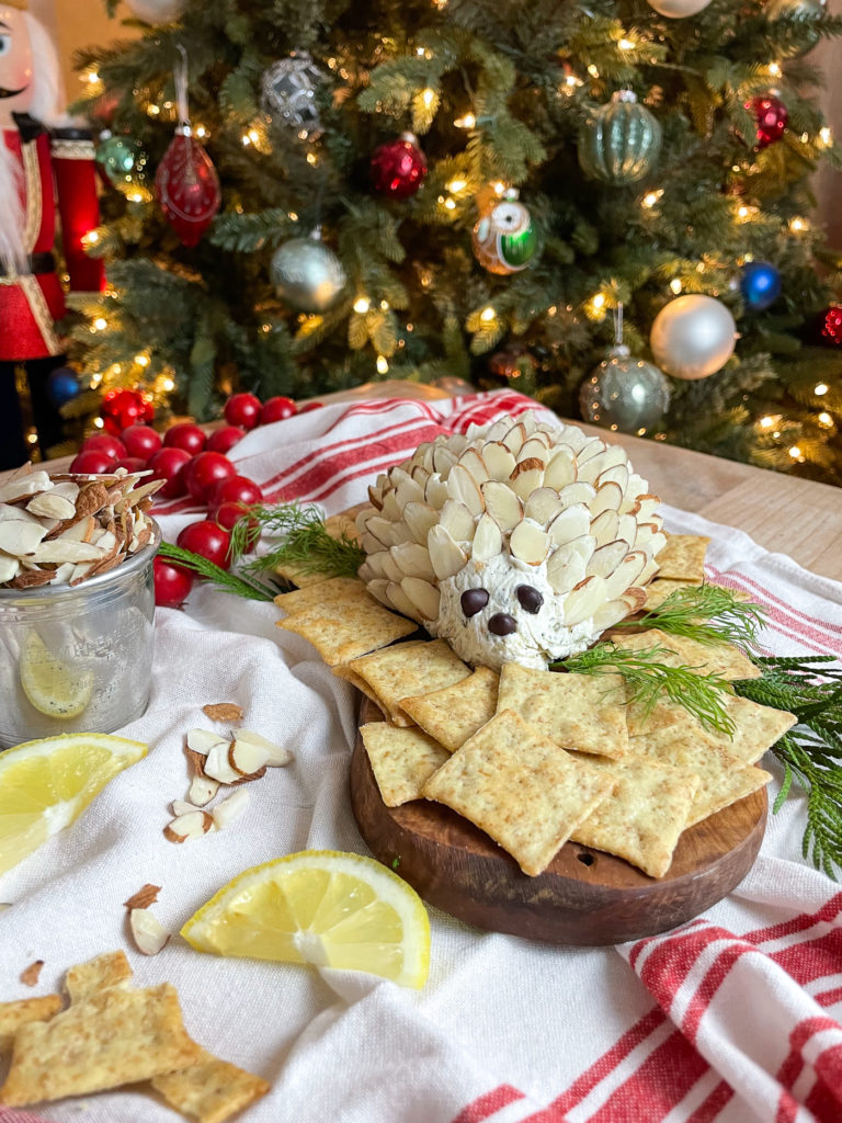
<path id="1" fill-rule="evenodd" d="M 245 572 L 264 573 L 278 566 L 292 566 L 301 573 L 321 573 L 330 577 L 356 577 L 365 562 L 365 551 L 342 532 L 329 533 L 324 515 L 318 506 L 284 503 L 277 506 L 258 504 L 248 508 L 245 518 L 234 528 L 231 553 L 241 557 L 251 548 L 255 527 L 268 538 L 282 539 L 277 546 L 254 558 Z"/>

